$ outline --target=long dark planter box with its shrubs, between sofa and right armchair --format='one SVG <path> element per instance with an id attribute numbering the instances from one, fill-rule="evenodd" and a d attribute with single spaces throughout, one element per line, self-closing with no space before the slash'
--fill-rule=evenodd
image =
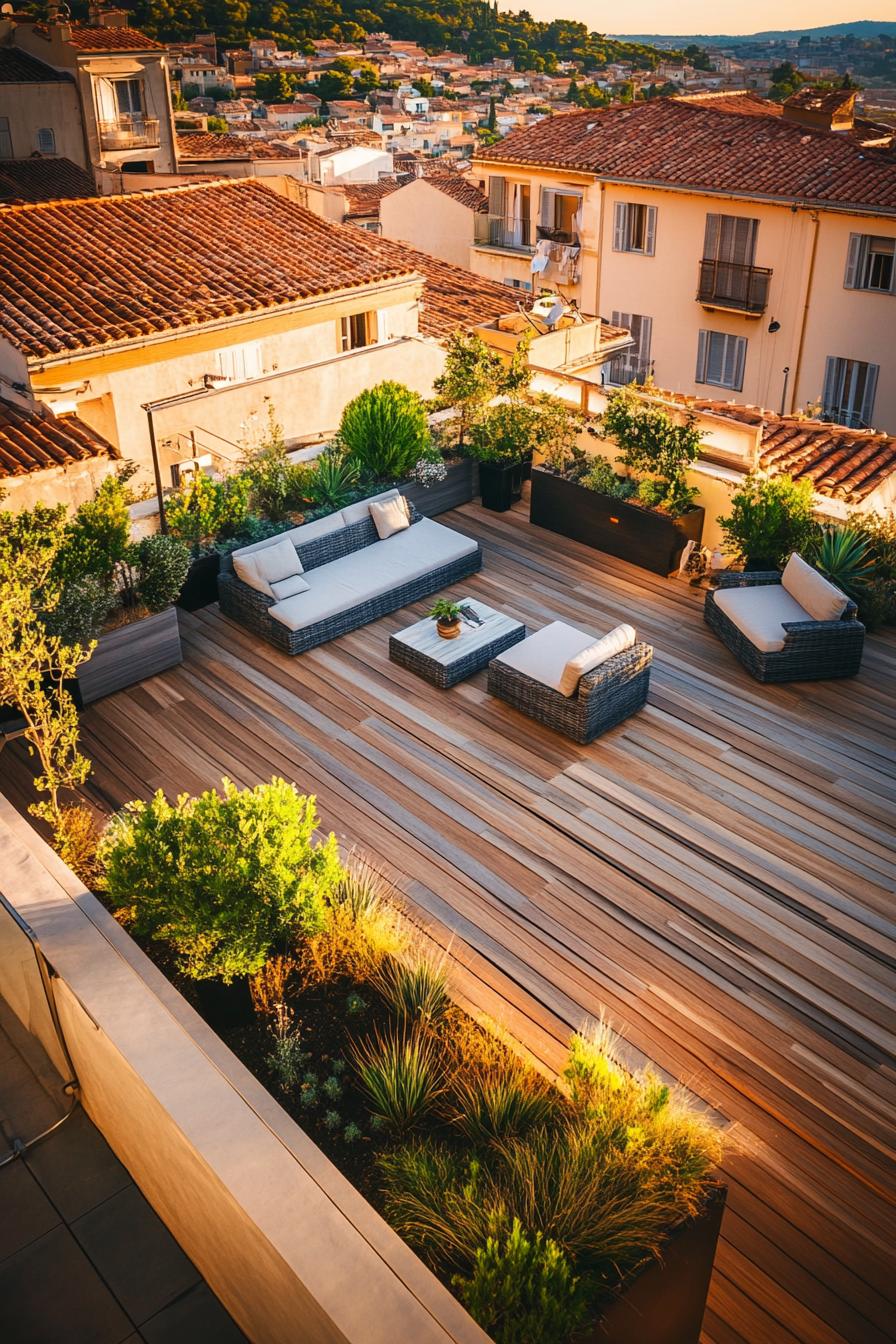
<path id="1" fill-rule="evenodd" d="M 700 543 L 704 509 L 685 469 L 700 454 L 693 415 L 684 422 L 629 391 L 613 392 L 600 423 L 619 448 L 618 474 L 600 457 L 557 444 L 532 473 L 529 519 L 654 574 L 670 574 L 686 542 Z"/>

